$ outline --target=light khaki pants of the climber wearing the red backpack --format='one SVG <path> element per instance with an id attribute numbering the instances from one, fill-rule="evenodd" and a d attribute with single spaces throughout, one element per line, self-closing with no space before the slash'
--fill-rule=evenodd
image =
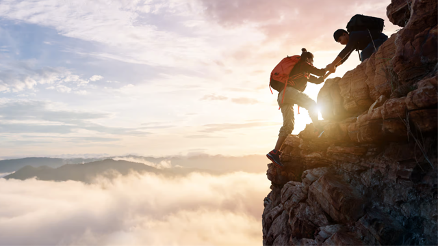
<path id="1" fill-rule="evenodd" d="M 281 103 L 283 93 L 285 93 L 285 96 L 283 103 Z M 277 102 L 281 108 L 281 113 L 283 113 L 283 126 L 280 128 L 279 137 L 288 136 L 294 130 L 294 104 L 307 109 L 312 122 L 318 122 L 318 109 L 316 107 L 316 102 L 293 87 L 288 86 L 286 87 L 286 90 L 280 92 Z"/>

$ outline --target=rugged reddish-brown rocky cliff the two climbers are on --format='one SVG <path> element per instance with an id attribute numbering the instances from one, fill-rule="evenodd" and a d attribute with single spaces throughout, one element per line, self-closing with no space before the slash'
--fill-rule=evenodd
<path id="1" fill-rule="evenodd" d="M 403 27 L 318 95 L 307 125 L 268 165 L 263 245 L 438 245 L 437 1 L 393 0 Z"/>

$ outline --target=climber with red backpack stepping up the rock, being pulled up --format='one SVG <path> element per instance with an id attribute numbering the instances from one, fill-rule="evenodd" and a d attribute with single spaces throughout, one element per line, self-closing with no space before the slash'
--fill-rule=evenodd
<path id="1" fill-rule="evenodd" d="M 312 76 L 315 74 L 319 78 Z M 301 55 L 285 57 L 272 70 L 270 77 L 270 87 L 279 92 L 277 102 L 283 114 L 283 126 L 280 128 L 279 139 L 276 141 L 274 150 L 266 154 L 268 159 L 277 167 L 283 167 L 280 161 L 281 146 L 287 136 L 294 130 L 294 104 L 309 111 L 309 116 L 313 126 L 317 130 L 316 135 L 322 132 L 318 121 L 318 110 L 316 102 L 303 93 L 307 82 L 320 84 L 324 82 L 324 68 L 318 69 L 313 66 L 313 54 L 302 49 Z M 271 91 L 272 92 L 272 91 Z"/>

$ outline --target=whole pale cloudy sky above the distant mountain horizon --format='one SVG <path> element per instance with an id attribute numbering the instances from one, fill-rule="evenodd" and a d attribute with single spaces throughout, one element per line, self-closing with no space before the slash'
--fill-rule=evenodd
<path id="1" fill-rule="evenodd" d="M 390 36 L 389 3 L 2 0 L 0 156 L 266 154 L 282 124 L 272 68 L 302 48 L 324 68 L 354 14 Z M 310 122 L 300 109 L 293 133 Z"/>

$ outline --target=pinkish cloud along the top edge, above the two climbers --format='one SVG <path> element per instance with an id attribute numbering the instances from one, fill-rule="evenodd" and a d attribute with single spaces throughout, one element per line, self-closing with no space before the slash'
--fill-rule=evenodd
<path id="1" fill-rule="evenodd" d="M 220 25 L 236 27 L 257 23 L 259 29 L 266 33 L 270 40 L 289 37 L 287 42 L 291 40 L 303 42 L 310 31 L 331 36 L 335 29 L 328 31 L 327 26 L 344 27 L 357 12 L 386 17 L 380 10 L 384 10 L 389 4 L 379 0 L 363 2 L 337 0 L 318 1 L 318 3 L 288 0 L 199 0 L 199 2 L 205 6 L 205 14 Z"/>

